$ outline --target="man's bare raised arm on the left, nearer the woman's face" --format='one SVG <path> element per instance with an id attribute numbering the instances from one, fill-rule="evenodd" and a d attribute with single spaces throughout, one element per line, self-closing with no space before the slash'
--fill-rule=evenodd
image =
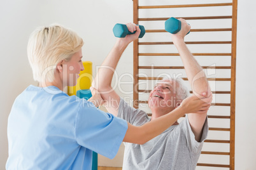
<path id="1" fill-rule="evenodd" d="M 108 112 L 116 116 L 118 114 L 120 96 L 118 96 L 111 87 L 113 74 L 125 48 L 127 48 L 130 42 L 138 39 L 141 32 L 139 26 L 136 26 L 134 23 L 128 23 L 127 28 L 130 32 L 134 32 L 136 30 L 136 33 L 117 39 L 117 42 L 99 68 L 96 78 L 92 82 L 91 88 L 91 90 L 95 88 L 97 91 L 99 91 Z"/>

